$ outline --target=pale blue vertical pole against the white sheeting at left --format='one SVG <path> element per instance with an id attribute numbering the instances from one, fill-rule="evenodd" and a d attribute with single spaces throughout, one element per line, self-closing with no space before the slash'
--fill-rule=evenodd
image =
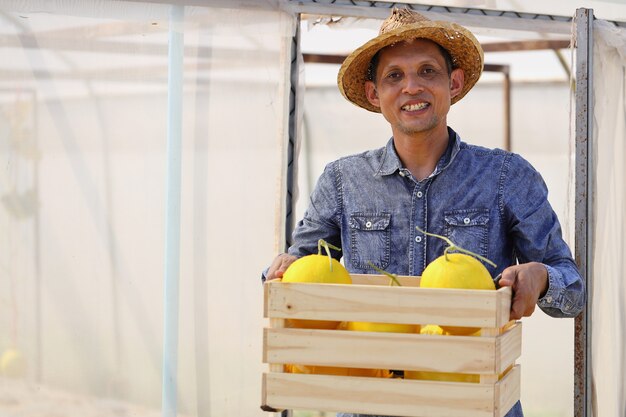
<path id="1" fill-rule="evenodd" d="M 169 27 L 167 193 L 163 321 L 162 416 L 177 415 L 178 281 L 180 275 L 180 184 L 184 6 L 172 6 Z"/>

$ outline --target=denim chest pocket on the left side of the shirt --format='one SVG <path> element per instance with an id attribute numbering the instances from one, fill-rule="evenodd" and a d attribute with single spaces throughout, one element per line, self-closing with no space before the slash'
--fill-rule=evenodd
<path id="1" fill-rule="evenodd" d="M 363 214 L 350 216 L 350 262 L 358 269 L 385 269 L 389 265 L 391 250 L 391 213 Z"/>

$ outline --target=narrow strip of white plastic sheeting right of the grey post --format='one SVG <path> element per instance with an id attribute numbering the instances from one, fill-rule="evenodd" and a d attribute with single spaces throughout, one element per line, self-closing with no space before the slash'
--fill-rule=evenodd
<path id="1" fill-rule="evenodd" d="M 594 23 L 593 415 L 626 415 L 626 30 Z"/>

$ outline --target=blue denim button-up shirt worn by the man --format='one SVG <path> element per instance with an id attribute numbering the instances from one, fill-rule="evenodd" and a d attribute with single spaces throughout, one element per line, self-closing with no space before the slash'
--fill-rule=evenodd
<path id="1" fill-rule="evenodd" d="M 450 128 L 449 145 L 435 171 L 416 180 L 395 151 L 383 148 L 328 164 L 293 234 L 288 252 L 317 253 L 323 238 L 342 248 L 351 273 L 421 275 L 446 243 L 416 226 L 450 238 L 490 259 L 492 276 L 516 263 L 548 270 L 548 290 L 537 305 L 554 317 L 574 317 L 585 302 L 584 284 L 561 236 L 541 175 L 521 156 L 469 145 Z"/>

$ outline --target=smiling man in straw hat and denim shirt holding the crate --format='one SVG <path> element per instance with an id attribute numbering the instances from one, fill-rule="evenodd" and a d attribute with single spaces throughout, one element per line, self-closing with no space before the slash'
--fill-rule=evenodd
<path id="1" fill-rule="evenodd" d="M 350 272 L 375 273 L 373 263 L 420 275 L 445 243 L 417 226 L 495 262 L 485 266 L 513 288 L 511 319 L 530 316 L 536 305 L 555 317 L 576 316 L 584 285 L 539 173 L 519 155 L 462 142 L 447 126 L 450 106 L 482 66 L 482 48 L 467 29 L 394 10 L 338 78 L 344 97 L 382 113 L 393 137 L 326 167 L 293 246 L 266 279 L 316 253 L 320 238 L 342 248 L 333 256 L 343 256 Z M 521 415 L 519 403 L 507 414 Z"/>

